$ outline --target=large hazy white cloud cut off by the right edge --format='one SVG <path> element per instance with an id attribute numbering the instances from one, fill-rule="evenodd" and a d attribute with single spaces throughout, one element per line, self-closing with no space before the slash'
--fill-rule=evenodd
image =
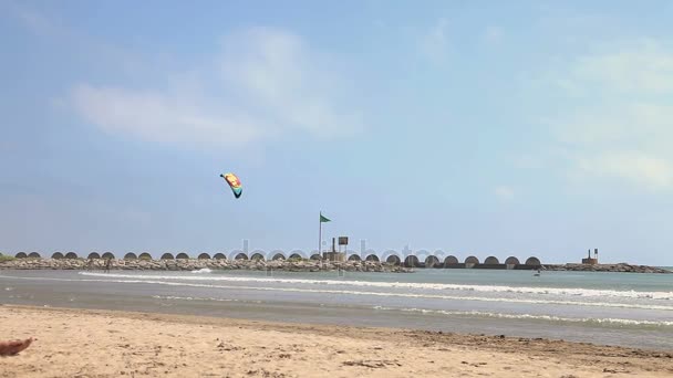
<path id="1" fill-rule="evenodd" d="M 571 109 L 548 119 L 569 175 L 673 189 L 673 50 L 653 40 L 597 50 L 549 82 Z"/>

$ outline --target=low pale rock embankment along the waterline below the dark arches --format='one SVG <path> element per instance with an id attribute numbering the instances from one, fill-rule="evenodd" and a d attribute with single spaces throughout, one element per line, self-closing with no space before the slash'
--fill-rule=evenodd
<path id="1" fill-rule="evenodd" d="M 0 270 L 105 270 L 105 259 L 15 259 L 0 262 Z M 177 259 L 177 260 L 120 260 L 112 259 L 110 270 L 125 271 L 197 271 L 250 270 L 286 272 L 387 272 L 410 273 L 413 270 L 375 261 L 314 261 L 314 260 L 219 260 L 219 259 Z"/>

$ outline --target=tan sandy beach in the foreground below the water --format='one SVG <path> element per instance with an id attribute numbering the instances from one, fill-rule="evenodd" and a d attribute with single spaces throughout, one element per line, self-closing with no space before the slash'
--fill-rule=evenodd
<path id="1" fill-rule="evenodd" d="M 673 377 L 672 351 L 0 305 L 0 377 Z"/>

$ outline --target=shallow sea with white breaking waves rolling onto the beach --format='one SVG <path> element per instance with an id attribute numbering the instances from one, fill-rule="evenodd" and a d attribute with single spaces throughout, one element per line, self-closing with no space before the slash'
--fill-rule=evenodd
<path id="1" fill-rule="evenodd" d="M 0 271 L 0 303 L 547 337 L 673 350 L 673 274 Z"/>

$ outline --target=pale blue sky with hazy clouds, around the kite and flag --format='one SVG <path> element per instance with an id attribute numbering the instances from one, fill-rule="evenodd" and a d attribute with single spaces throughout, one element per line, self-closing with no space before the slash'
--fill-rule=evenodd
<path id="1" fill-rule="evenodd" d="M 358 253 L 673 265 L 672 19 L 0 0 L 0 252 L 308 254 L 322 211 Z"/>

